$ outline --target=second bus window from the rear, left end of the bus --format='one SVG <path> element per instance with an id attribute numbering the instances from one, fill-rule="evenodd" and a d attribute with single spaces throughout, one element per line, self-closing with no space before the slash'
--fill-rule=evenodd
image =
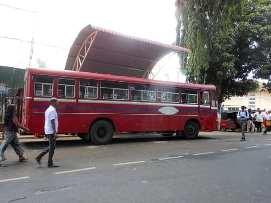
<path id="1" fill-rule="evenodd" d="M 58 79 L 58 97 L 75 97 L 75 80 Z"/>

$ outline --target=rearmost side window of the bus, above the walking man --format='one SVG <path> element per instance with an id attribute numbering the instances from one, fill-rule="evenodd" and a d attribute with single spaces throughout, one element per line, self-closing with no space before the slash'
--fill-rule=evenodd
<path id="1" fill-rule="evenodd" d="M 53 78 L 35 77 L 35 96 L 52 97 L 53 96 Z"/>

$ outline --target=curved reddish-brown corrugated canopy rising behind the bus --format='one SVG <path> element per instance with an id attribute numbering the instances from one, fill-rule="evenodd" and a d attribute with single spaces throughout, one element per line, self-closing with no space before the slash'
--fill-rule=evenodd
<path id="1" fill-rule="evenodd" d="M 175 51 L 189 49 L 86 26 L 75 39 L 65 70 L 148 78 L 156 63 Z"/>

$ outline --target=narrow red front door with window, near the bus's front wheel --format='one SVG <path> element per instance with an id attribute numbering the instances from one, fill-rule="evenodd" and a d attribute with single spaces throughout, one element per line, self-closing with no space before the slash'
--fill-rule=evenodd
<path id="1" fill-rule="evenodd" d="M 200 91 L 200 108 L 199 108 L 199 116 L 202 123 L 202 130 L 208 130 L 208 125 L 211 122 L 212 111 L 211 111 L 211 95 L 209 91 Z"/>

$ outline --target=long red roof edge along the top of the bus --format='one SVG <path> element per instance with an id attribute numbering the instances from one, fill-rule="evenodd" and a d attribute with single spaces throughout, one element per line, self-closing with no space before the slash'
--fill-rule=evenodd
<path id="1" fill-rule="evenodd" d="M 93 80 L 104 80 L 104 81 L 115 81 L 115 82 L 128 82 L 137 84 L 149 84 L 157 86 L 170 86 L 170 87 L 183 87 L 203 90 L 215 90 L 214 85 L 199 85 L 191 83 L 179 83 L 179 82 L 168 82 L 160 80 L 150 80 L 145 78 L 134 78 L 126 76 L 116 76 L 110 74 L 99 74 L 99 73 L 88 73 L 78 71 L 67 71 L 67 70 L 52 70 L 46 68 L 28 68 L 27 74 L 43 75 L 43 76 L 57 76 L 65 78 L 82 78 L 82 79 L 93 79 Z"/>

